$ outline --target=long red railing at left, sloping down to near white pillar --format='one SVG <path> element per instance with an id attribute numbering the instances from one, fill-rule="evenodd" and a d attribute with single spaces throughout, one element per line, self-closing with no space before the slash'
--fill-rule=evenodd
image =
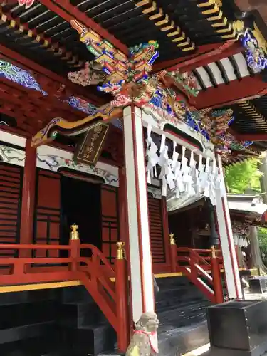
<path id="1" fill-rule="evenodd" d="M 117 332 L 120 350 L 126 350 L 129 322 L 125 259 L 117 259 L 113 268 L 98 248 L 91 244 L 80 244 L 78 239 L 71 240 L 68 246 L 0 244 L 0 252 L 11 249 L 19 251 L 20 257 L 0 258 L 0 286 L 81 281 Z M 90 257 L 82 257 L 86 250 Z M 68 251 L 68 256 L 31 257 L 33 251 L 47 251 L 48 254 L 49 251 Z"/>

